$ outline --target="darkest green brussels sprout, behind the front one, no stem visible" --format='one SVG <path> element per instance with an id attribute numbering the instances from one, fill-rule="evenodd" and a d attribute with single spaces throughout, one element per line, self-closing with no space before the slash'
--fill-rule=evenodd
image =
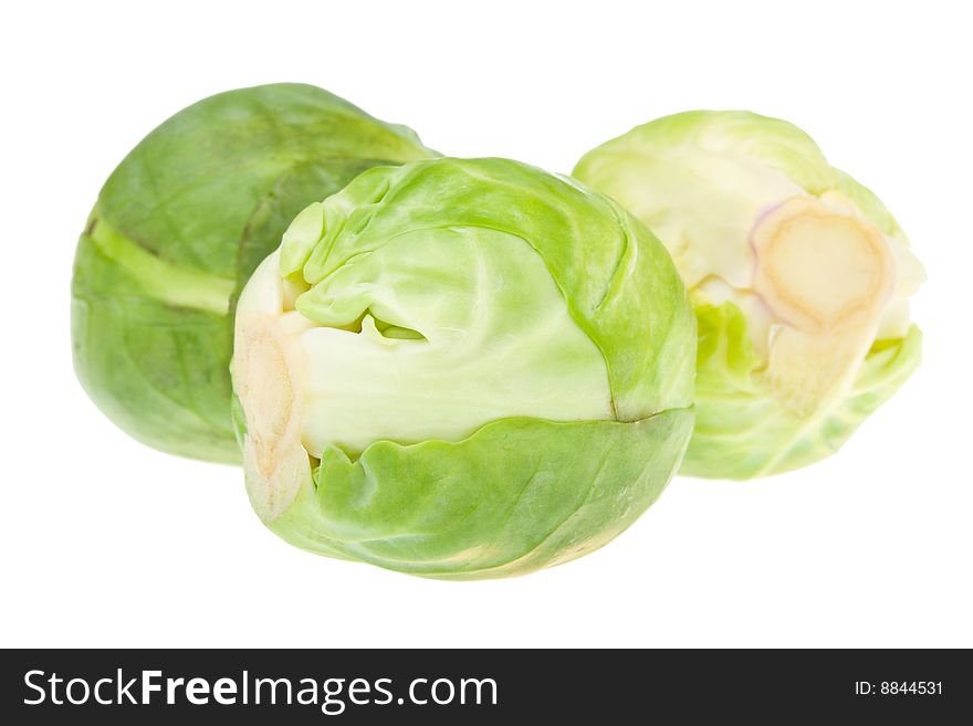
<path id="1" fill-rule="evenodd" d="M 72 336 L 88 396 L 150 446 L 238 462 L 239 288 L 307 203 L 377 164 L 428 156 L 409 129 L 306 85 L 231 91 L 172 116 L 105 182 L 79 242 Z"/>

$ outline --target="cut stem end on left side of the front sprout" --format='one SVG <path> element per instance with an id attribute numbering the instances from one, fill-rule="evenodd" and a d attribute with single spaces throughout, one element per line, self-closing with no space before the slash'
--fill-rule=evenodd
<path id="1" fill-rule="evenodd" d="M 268 524 L 286 511 L 311 477 L 311 463 L 301 443 L 294 361 L 287 359 L 278 327 L 271 315 L 238 315 L 233 354 L 233 382 L 247 419 L 247 492 L 254 511 Z"/>

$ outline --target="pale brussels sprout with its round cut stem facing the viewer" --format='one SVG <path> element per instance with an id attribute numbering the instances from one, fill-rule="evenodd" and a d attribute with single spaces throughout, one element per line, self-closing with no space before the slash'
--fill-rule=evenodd
<path id="1" fill-rule="evenodd" d="M 919 365 L 924 278 L 876 196 L 795 126 L 692 112 L 588 152 L 574 176 L 669 248 L 699 323 L 681 473 L 749 478 L 836 451 Z"/>

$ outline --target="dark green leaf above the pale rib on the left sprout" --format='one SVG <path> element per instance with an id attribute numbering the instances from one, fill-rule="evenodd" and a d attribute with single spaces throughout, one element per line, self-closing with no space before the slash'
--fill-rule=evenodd
<path id="1" fill-rule="evenodd" d="M 164 260 L 232 277 L 240 235 L 281 177 L 308 161 L 430 156 L 402 129 L 310 85 L 230 91 L 146 136 L 108 177 L 100 204 Z"/>

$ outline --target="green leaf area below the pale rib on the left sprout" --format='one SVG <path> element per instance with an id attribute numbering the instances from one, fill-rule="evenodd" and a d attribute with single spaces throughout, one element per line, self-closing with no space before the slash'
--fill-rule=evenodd
<path id="1" fill-rule="evenodd" d="M 226 314 L 142 294 L 142 280 L 87 234 L 71 302 L 74 367 L 87 394 L 138 441 L 181 456 L 239 460 L 229 417 Z M 125 294 L 124 291 L 132 291 Z"/>

